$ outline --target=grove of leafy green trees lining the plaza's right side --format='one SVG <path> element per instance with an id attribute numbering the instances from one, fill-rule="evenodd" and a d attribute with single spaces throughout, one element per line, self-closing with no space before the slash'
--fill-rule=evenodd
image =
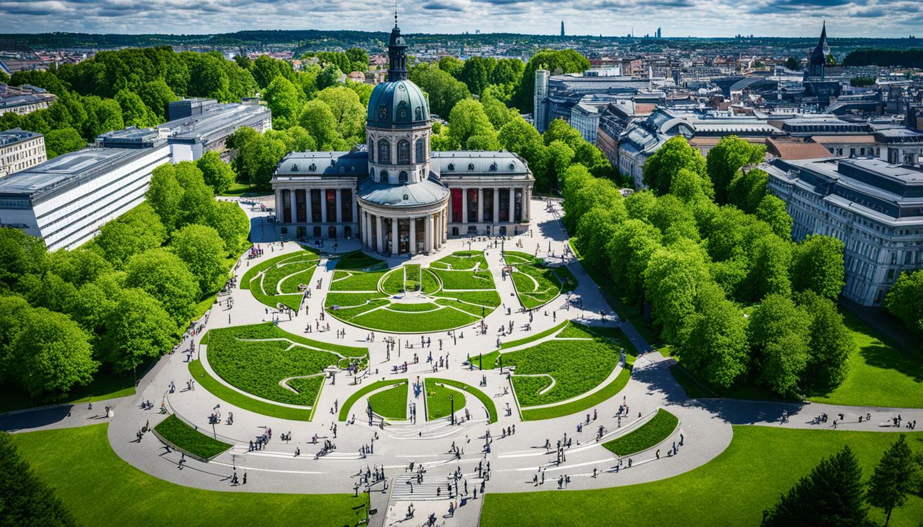
<path id="1" fill-rule="evenodd" d="M 708 159 L 671 138 L 644 167 L 650 190 L 621 198 L 583 166 L 563 177 L 565 223 L 695 375 L 724 390 L 749 379 L 782 396 L 839 385 L 854 343 L 834 300 L 843 244 L 790 240 L 785 204 L 742 167 L 762 147 L 723 138 Z M 730 177 L 734 174 L 733 177 Z"/>

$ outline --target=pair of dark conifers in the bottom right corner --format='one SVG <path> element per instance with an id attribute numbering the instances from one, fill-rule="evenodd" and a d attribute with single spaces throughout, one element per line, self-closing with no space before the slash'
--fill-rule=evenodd
<path id="1" fill-rule="evenodd" d="M 762 527 L 870 527 L 869 507 L 881 509 L 884 525 L 907 497 L 923 491 L 923 455 L 915 453 L 901 434 L 884 451 L 868 481 L 848 446 L 823 459 L 798 480 L 771 509 L 763 512 Z M 868 505 L 867 505 L 868 504 Z"/>

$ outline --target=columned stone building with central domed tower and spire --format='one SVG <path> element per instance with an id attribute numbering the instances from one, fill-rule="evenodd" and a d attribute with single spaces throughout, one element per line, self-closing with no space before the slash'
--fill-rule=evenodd
<path id="1" fill-rule="evenodd" d="M 358 237 L 391 256 L 428 253 L 449 236 L 504 235 L 529 222 L 533 176 L 507 151 L 431 152 L 426 96 L 407 78 L 395 18 L 388 81 L 368 101 L 366 144 L 293 152 L 272 178 L 276 221 L 298 239 Z"/>

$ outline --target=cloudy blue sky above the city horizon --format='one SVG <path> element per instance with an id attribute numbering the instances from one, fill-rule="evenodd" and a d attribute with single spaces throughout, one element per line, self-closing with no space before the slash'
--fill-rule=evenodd
<path id="1" fill-rule="evenodd" d="M 0 33 L 390 30 L 393 0 L 0 0 Z M 417 0 L 405 33 L 923 38 L 920 0 Z"/>

